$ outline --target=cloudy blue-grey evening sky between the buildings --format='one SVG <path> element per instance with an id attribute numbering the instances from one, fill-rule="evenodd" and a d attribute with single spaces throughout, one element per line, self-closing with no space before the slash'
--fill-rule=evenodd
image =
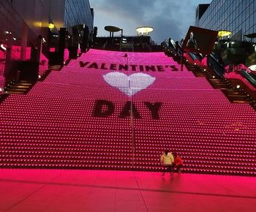
<path id="1" fill-rule="evenodd" d="M 208 3 L 211 0 L 90 0 L 98 36 L 109 36 L 104 29 L 108 25 L 123 29 L 124 36 L 136 35 L 139 26 L 151 26 L 150 36 L 158 44 L 168 37 L 184 38 L 189 26 L 195 25 L 198 4 Z"/>

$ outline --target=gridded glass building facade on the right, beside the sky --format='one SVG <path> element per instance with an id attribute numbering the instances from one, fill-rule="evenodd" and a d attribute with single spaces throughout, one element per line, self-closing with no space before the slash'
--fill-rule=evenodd
<path id="1" fill-rule="evenodd" d="M 244 35 L 256 32 L 256 1 L 213 0 L 201 17 L 197 12 L 196 26 L 231 31 L 236 39 L 249 41 Z"/>

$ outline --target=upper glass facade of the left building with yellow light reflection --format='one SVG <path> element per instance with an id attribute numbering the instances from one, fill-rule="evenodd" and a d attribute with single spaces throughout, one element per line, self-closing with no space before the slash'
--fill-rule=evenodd
<path id="1" fill-rule="evenodd" d="M 83 23 L 92 33 L 94 10 L 89 0 L 1 0 L 0 20 L 0 42 L 6 40 L 5 31 L 12 32 L 16 42 L 33 42 L 39 35 L 47 40 L 49 23 L 56 33 Z"/>

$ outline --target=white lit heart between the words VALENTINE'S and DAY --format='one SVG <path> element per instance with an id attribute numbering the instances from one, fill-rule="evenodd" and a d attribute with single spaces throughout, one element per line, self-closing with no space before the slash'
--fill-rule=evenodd
<path id="1" fill-rule="evenodd" d="M 137 92 L 147 88 L 156 80 L 155 77 L 143 73 L 135 73 L 127 76 L 121 72 L 110 72 L 103 75 L 104 80 L 115 88 L 118 88 L 127 96 L 132 96 Z"/>

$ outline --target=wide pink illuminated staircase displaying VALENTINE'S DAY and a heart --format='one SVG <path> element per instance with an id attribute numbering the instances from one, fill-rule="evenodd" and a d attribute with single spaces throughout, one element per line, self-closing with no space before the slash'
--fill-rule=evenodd
<path id="1" fill-rule="evenodd" d="M 255 110 L 164 53 L 91 49 L 0 115 L 0 167 L 160 171 L 170 148 L 187 173 L 256 175 Z"/>

